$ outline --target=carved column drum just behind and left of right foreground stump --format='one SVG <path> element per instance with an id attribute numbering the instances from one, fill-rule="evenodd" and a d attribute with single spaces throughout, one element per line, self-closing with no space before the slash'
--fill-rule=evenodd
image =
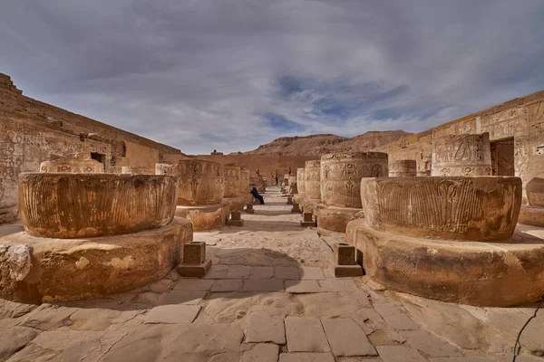
<path id="1" fill-rule="evenodd" d="M 383 152 L 330 153 L 321 157 L 321 201 L 337 207 L 361 207 L 363 177 L 388 176 Z"/>

